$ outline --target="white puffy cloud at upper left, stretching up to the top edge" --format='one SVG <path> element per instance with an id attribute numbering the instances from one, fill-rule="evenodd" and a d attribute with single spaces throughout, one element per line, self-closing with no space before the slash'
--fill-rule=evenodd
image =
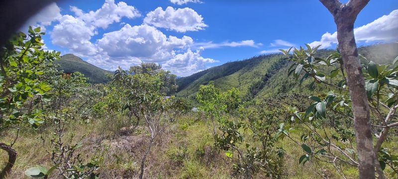
<path id="1" fill-rule="evenodd" d="M 68 48 L 72 53 L 93 56 L 98 53 L 91 38 L 98 34 L 98 28 L 107 28 L 108 25 L 119 22 L 122 17 L 139 17 L 139 11 L 125 2 L 115 4 L 114 0 L 105 0 L 100 9 L 85 13 L 83 10 L 71 6 L 76 16 L 63 15 L 59 24 L 54 26 L 51 33 L 52 43 Z"/>

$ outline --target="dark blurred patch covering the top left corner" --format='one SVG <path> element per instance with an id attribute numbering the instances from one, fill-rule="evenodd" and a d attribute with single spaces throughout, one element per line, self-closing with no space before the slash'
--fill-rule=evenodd
<path id="1" fill-rule="evenodd" d="M 59 0 L 0 0 L 0 47 L 33 15 Z"/>

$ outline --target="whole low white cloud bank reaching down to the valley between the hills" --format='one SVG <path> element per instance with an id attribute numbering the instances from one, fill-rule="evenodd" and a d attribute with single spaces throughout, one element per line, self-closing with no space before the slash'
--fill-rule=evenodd
<path id="1" fill-rule="evenodd" d="M 192 51 L 190 46 L 193 43 L 191 37 L 166 36 L 147 24 L 126 24 L 118 31 L 103 34 L 97 40 L 100 55 L 89 57 L 88 62 L 108 70 L 115 70 L 118 66 L 128 68 L 142 62 L 155 62 L 173 74 L 188 76 L 205 70 L 207 64 L 216 62 L 200 55 L 203 48 Z"/>

